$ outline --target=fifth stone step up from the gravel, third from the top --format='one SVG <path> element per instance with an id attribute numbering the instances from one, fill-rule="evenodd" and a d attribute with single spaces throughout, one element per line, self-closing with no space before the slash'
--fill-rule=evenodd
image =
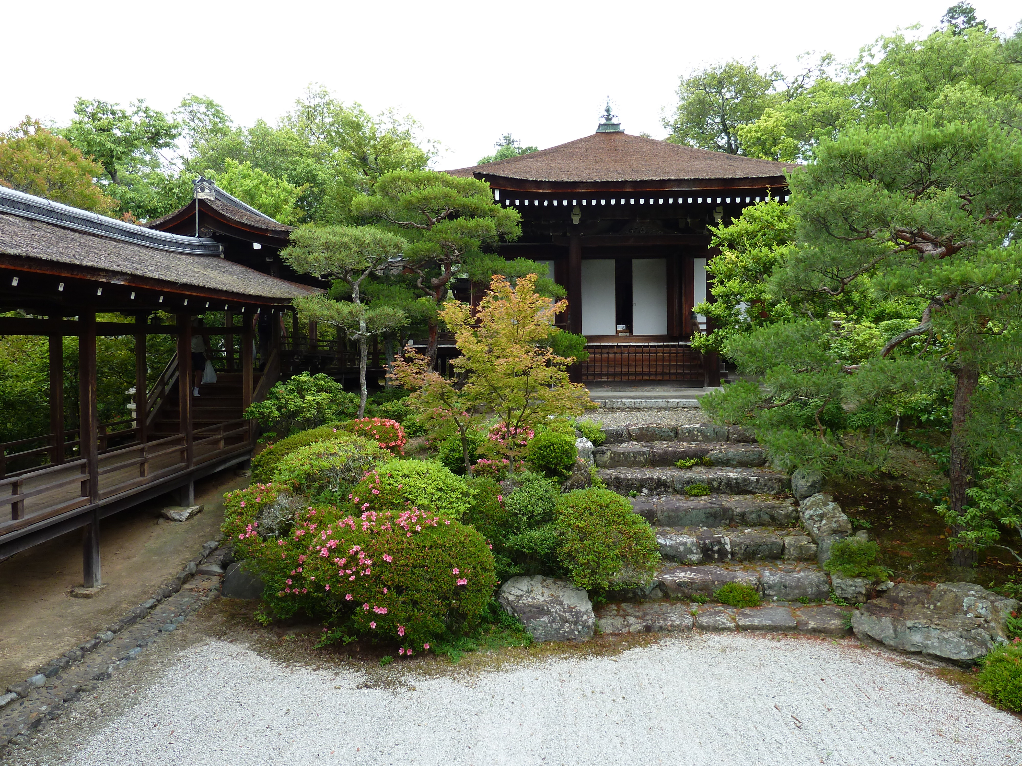
<path id="1" fill-rule="evenodd" d="M 778 494 L 791 487 L 785 474 L 766 468 L 604 468 L 597 474 L 620 494 L 685 494 L 693 484 L 721 494 Z"/>

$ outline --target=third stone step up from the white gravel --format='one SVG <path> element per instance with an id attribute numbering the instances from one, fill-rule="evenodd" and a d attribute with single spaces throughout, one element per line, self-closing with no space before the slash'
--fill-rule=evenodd
<path id="1" fill-rule="evenodd" d="M 680 564 L 750 562 L 784 559 L 815 561 L 817 545 L 799 529 L 709 529 L 658 527 L 660 556 Z"/>

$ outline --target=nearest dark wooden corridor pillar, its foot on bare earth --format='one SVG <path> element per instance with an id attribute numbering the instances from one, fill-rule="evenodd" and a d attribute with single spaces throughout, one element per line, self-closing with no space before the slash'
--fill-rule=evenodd
<path id="1" fill-rule="evenodd" d="M 96 314 L 79 316 L 82 327 L 78 336 L 79 448 L 89 477 L 89 501 L 99 501 L 98 402 L 96 400 Z M 84 492 L 83 492 L 84 494 Z M 99 561 L 99 513 L 83 529 L 82 582 L 85 587 L 99 587 L 102 576 Z"/>

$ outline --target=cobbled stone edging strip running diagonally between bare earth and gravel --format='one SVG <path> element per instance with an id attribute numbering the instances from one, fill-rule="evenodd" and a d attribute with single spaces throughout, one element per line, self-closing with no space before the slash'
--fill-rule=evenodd
<path id="1" fill-rule="evenodd" d="M 0 748 L 8 743 L 24 744 L 32 732 L 59 718 L 66 705 L 95 691 L 96 684 L 110 678 L 161 634 L 177 629 L 202 604 L 219 595 L 221 563 L 230 555 L 231 549 L 221 548 L 219 540 L 210 540 L 199 556 L 151 599 L 133 607 L 93 638 L 50 660 L 25 681 L 8 686 L 0 695 Z M 194 582 L 184 587 L 189 581 Z M 6 751 L 8 755 L 10 752 Z"/>

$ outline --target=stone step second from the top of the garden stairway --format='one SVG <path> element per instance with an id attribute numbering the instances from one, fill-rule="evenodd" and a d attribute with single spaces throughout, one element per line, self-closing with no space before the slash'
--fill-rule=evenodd
<path id="1" fill-rule="evenodd" d="M 766 465 L 766 452 L 758 444 L 730 441 L 626 441 L 598 446 L 593 450 L 593 458 L 598 468 L 667 467 L 692 459 L 727 468 Z"/>

